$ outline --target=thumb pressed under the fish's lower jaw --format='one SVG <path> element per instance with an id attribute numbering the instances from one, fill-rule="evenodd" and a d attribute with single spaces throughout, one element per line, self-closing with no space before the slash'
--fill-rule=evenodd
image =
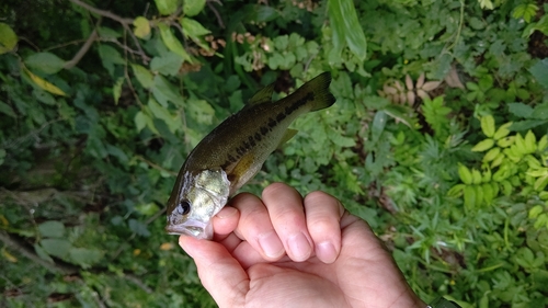
<path id="1" fill-rule="evenodd" d="M 243 306 L 249 276 L 224 246 L 185 236 L 179 244 L 194 259 L 202 284 L 219 307 Z"/>

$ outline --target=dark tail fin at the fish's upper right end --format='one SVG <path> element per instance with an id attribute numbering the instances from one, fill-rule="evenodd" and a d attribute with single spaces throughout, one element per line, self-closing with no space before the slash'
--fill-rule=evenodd
<path id="1" fill-rule="evenodd" d="M 330 83 L 331 73 L 326 71 L 302 84 L 302 87 L 300 87 L 294 95 L 297 98 L 309 98 L 311 94 L 312 100 L 307 102 L 310 106 L 310 111 L 327 109 L 336 101 L 335 96 L 333 96 L 333 94 L 329 91 Z"/>

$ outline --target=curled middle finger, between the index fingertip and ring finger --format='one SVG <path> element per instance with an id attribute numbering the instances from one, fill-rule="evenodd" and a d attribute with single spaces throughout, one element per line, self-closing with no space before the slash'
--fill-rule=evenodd
<path id="1" fill-rule="evenodd" d="M 271 224 L 266 207 L 252 194 L 239 194 L 231 201 L 240 212 L 240 221 L 235 232 L 254 248 L 265 260 L 276 261 L 285 250 Z"/>

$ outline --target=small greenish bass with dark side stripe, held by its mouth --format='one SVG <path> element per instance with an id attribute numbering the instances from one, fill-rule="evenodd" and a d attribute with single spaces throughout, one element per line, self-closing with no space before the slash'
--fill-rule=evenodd
<path id="1" fill-rule="evenodd" d="M 331 73 L 323 72 L 275 102 L 272 83 L 215 127 L 181 167 L 168 201 L 165 231 L 212 239 L 212 218 L 297 133 L 288 126 L 299 115 L 334 104 L 330 83 Z"/>

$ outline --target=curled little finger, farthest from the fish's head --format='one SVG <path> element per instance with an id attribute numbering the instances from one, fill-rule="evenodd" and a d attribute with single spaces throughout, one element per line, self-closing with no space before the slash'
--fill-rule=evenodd
<path id="1" fill-rule="evenodd" d="M 344 207 L 336 198 L 323 192 L 308 194 L 304 203 L 316 256 L 324 263 L 333 263 L 341 251 L 341 217 Z"/>

